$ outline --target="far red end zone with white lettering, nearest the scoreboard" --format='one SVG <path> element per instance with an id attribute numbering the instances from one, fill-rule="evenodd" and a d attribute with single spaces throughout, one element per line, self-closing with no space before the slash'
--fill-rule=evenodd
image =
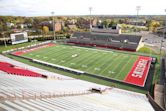
<path id="1" fill-rule="evenodd" d="M 46 48 L 46 47 L 50 47 L 50 46 L 54 46 L 54 45 L 55 44 L 49 43 L 49 44 L 46 44 L 46 45 L 42 45 L 42 46 L 30 48 L 30 49 L 25 49 L 25 50 L 22 50 L 22 51 L 17 51 L 17 52 L 14 52 L 12 54 L 13 55 L 22 55 L 22 54 L 25 54 L 25 53 L 28 53 L 28 52 L 31 52 L 31 51 L 34 51 L 34 50 L 38 50 L 38 49 L 42 49 L 42 48 Z"/>

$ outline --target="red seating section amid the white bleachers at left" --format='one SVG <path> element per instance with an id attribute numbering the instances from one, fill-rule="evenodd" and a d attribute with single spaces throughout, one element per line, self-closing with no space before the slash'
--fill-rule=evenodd
<path id="1" fill-rule="evenodd" d="M 12 65 L 7 62 L 0 62 L 0 70 L 7 72 L 8 74 L 13 74 L 13 75 L 42 77 L 42 75 L 39 73 Z"/>

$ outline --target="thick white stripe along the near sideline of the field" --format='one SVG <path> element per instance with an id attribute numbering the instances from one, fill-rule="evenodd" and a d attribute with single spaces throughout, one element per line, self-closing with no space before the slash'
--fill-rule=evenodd
<path id="1" fill-rule="evenodd" d="M 51 66 L 55 66 L 55 67 L 59 67 L 59 68 L 70 70 L 70 71 L 74 71 L 74 72 L 78 72 L 78 73 L 81 73 L 81 74 L 84 73 L 83 71 L 80 71 L 80 70 L 76 70 L 76 69 L 72 69 L 72 68 L 69 68 L 69 67 L 60 66 L 60 65 L 57 65 L 57 64 L 52 64 L 52 63 L 48 63 L 48 62 L 44 62 L 44 61 L 40 61 L 40 60 L 37 60 L 37 59 L 32 59 L 32 61 L 35 61 L 35 62 L 38 62 L 38 63 L 42 63 L 42 64 L 51 65 Z"/>

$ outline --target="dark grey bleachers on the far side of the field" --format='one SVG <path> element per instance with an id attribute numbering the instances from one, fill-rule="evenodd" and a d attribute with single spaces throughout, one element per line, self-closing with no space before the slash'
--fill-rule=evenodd
<path id="1" fill-rule="evenodd" d="M 67 43 L 136 51 L 140 41 L 141 36 L 136 35 L 75 32 Z"/>

